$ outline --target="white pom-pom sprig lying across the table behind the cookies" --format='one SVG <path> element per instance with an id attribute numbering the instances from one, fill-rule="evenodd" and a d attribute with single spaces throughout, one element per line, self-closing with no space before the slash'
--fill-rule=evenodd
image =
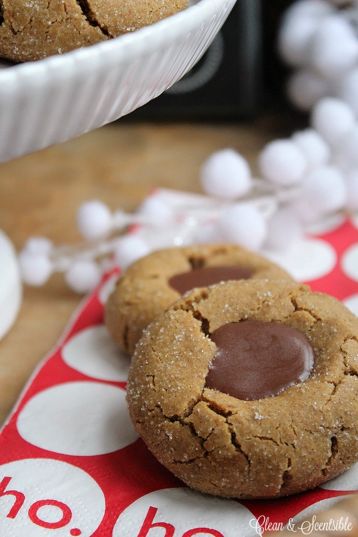
<path id="1" fill-rule="evenodd" d="M 341 149 L 357 125 L 348 105 L 322 99 L 309 128 L 261 150 L 260 177 L 252 176 L 249 163 L 233 149 L 211 154 L 200 169 L 200 204 L 185 198 L 173 206 L 154 196 L 127 214 L 87 201 L 77 212 L 84 243 L 55 248 L 46 238 L 30 238 L 19 255 L 23 279 L 43 285 L 60 271 L 72 289 L 86 293 L 111 267 L 125 269 L 158 248 L 231 242 L 253 251 L 284 250 L 308 225 L 358 210 L 357 155 Z M 131 226 L 140 233 L 127 233 Z"/>

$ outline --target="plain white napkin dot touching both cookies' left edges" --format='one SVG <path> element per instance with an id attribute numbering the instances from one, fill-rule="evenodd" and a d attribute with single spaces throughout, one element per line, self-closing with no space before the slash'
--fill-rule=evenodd
<path id="1" fill-rule="evenodd" d="M 78 332 L 62 349 L 62 358 L 70 367 L 100 380 L 127 380 L 129 356 L 122 353 L 104 325 Z"/>

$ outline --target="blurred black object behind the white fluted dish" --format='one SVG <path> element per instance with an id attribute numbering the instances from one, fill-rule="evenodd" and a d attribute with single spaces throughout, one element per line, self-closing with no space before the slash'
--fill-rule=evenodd
<path id="1" fill-rule="evenodd" d="M 282 13 L 291 2 L 237 0 L 196 66 L 126 120 L 252 119 L 262 108 L 287 104 L 286 69 L 275 41 Z"/>

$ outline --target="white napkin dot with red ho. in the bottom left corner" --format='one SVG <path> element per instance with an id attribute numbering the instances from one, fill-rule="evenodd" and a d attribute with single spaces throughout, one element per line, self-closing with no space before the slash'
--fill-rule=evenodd
<path id="1" fill-rule="evenodd" d="M 105 514 L 96 481 L 62 461 L 24 459 L 2 465 L 0 488 L 5 492 L 0 496 L 1 535 L 8 537 L 90 537 Z"/>

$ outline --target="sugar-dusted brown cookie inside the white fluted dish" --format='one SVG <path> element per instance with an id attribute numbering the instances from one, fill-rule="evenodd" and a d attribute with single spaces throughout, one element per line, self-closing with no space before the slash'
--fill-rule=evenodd
<path id="1" fill-rule="evenodd" d="M 133 32 L 187 7 L 187 0 L 0 0 L 0 56 L 39 60 Z"/>

